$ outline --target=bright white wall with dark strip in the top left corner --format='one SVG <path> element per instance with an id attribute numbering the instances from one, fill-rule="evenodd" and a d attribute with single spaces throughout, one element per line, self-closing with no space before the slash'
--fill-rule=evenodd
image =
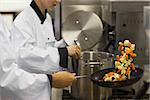
<path id="1" fill-rule="evenodd" d="M 32 0 L 0 0 L 0 15 L 8 26 L 11 26 L 15 16 L 27 7 Z"/>

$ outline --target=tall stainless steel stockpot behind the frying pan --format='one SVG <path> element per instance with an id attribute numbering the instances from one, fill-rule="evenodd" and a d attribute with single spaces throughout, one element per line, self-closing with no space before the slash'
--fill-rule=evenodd
<path id="1" fill-rule="evenodd" d="M 106 52 L 84 51 L 81 53 L 77 75 L 87 76 L 100 69 L 111 68 L 113 66 L 113 55 Z M 103 63 L 103 65 L 102 65 Z M 111 95 L 111 89 L 101 88 L 93 85 L 89 78 L 81 78 L 72 85 L 72 95 L 81 100 L 106 99 Z"/>

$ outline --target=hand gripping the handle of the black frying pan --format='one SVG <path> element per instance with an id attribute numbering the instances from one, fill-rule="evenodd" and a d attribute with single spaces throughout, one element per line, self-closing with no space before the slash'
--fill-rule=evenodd
<path id="1" fill-rule="evenodd" d="M 67 71 L 59 71 L 52 74 L 52 86 L 55 88 L 65 88 L 72 85 L 72 82 L 76 80 L 75 74 Z"/>

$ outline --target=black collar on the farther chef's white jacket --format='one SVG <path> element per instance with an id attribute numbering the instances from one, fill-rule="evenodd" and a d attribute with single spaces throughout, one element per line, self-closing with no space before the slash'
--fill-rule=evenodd
<path id="1" fill-rule="evenodd" d="M 35 13 L 37 14 L 37 16 L 39 17 L 39 19 L 41 20 L 41 24 L 43 24 L 44 21 L 45 21 L 45 19 L 46 19 L 47 9 L 45 10 L 45 15 L 43 15 L 34 0 L 32 0 L 30 6 L 33 8 L 33 10 L 35 11 Z"/>

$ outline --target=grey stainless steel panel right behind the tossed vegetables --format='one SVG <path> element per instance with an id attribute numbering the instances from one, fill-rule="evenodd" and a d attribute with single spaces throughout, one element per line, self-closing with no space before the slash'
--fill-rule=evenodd
<path id="1" fill-rule="evenodd" d="M 116 30 L 119 32 L 119 40 L 129 39 L 136 44 L 136 64 L 148 63 L 143 12 L 117 13 Z"/>

